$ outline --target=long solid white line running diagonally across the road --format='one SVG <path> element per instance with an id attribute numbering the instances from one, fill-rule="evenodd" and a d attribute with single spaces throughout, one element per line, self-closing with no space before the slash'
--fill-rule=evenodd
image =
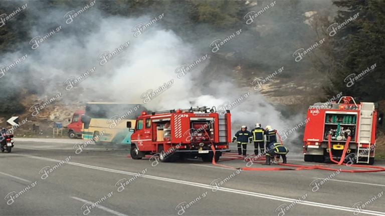
<path id="1" fill-rule="evenodd" d="M 39 156 L 24 155 L 24 154 L 15 154 L 15 155 L 26 156 L 26 157 L 41 159 L 41 160 L 60 162 L 60 160 L 47 158 L 47 157 L 39 157 Z M 114 172 L 114 173 L 132 175 L 132 176 L 137 175 L 137 173 L 135 173 L 135 172 L 105 168 L 105 167 L 101 167 L 101 166 L 88 165 L 88 164 L 84 164 L 84 163 L 77 163 L 77 162 L 67 162 L 67 163 L 71 164 L 71 165 L 75 165 L 75 166 L 81 166 L 81 167 L 86 167 L 86 168 L 91 168 L 91 169 L 102 170 L 102 171 L 109 171 L 109 172 Z M 202 187 L 202 188 L 207 188 L 207 189 L 213 189 L 213 185 L 210 185 L 210 184 L 203 184 L 203 183 L 192 182 L 192 181 L 184 181 L 184 180 L 179 180 L 179 179 L 174 179 L 174 178 L 166 178 L 166 177 L 147 175 L 147 174 L 143 174 L 140 177 L 154 179 L 154 180 L 167 181 L 167 182 L 172 182 L 172 183 L 185 184 L 185 185 L 196 186 L 196 187 Z M 233 188 L 229 188 L 229 187 L 219 187 L 218 190 L 225 191 L 225 192 L 237 193 L 237 194 L 243 194 L 243 195 L 249 195 L 249 196 L 254 196 L 254 197 L 259 197 L 259 198 L 284 201 L 284 202 L 291 202 L 291 203 L 295 202 L 295 203 L 302 204 L 302 205 L 310 205 L 310 206 L 315 206 L 315 207 L 330 208 L 330 209 L 341 210 L 341 211 L 355 212 L 357 210 L 356 208 L 352 208 L 352 207 L 332 205 L 332 204 L 321 203 L 321 202 L 312 202 L 312 201 L 306 201 L 306 200 L 298 202 L 298 200 L 294 199 L 294 198 L 270 195 L 270 194 L 265 194 L 265 193 L 251 192 L 251 191 L 246 191 L 246 190 L 233 189 Z M 360 213 L 370 214 L 370 215 L 382 215 L 382 216 L 385 215 L 385 212 L 372 211 L 372 210 L 366 210 L 366 209 L 361 209 Z"/>

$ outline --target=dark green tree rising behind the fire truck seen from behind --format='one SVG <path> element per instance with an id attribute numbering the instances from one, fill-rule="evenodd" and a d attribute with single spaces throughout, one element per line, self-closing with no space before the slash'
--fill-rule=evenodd
<path id="1" fill-rule="evenodd" d="M 381 90 L 385 84 L 382 72 L 385 68 L 385 1 L 338 0 L 334 4 L 341 8 L 335 17 L 338 24 L 357 13 L 358 17 L 332 37 L 330 55 L 335 63 L 329 74 L 330 82 L 325 86 L 326 93 L 331 96 L 342 91 L 367 101 L 384 99 Z M 362 73 L 374 64 L 374 70 Z M 353 76 L 360 73 L 363 77 L 355 80 Z"/>

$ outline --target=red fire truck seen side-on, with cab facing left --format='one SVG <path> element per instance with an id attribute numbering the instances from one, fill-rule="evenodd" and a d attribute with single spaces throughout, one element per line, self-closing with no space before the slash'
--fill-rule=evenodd
<path id="1" fill-rule="evenodd" d="M 137 117 L 131 135 L 131 157 L 140 159 L 146 154 L 158 154 L 160 161 L 176 157 L 201 157 L 211 161 L 216 150 L 218 161 L 223 151 L 229 151 L 231 142 L 230 110 L 217 112 L 206 106 L 142 112 Z M 130 125 L 127 125 L 130 127 Z"/>

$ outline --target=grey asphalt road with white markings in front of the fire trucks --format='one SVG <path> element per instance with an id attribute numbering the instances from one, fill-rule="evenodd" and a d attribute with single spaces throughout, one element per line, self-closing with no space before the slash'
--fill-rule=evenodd
<path id="1" fill-rule="evenodd" d="M 76 154 L 74 143 L 17 140 L 0 153 L 0 215 L 385 215 L 384 172 L 237 172 L 199 159 L 133 160 L 126 149 L 95 145 Z"/>

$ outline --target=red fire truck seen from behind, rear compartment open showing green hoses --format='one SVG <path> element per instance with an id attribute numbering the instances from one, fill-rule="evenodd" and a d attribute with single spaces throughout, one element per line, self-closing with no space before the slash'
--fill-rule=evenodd
<path id="1" fill-rule="evenodd" d="M 324 162 L 330 155 L 332 159 L 340 158 L 348 144 L 345 162 L 374 163 L 377 126 L 374 103 L 357 104 L 353 97 L 342 96 L 338 102 L 310 106 L 307 119 L 303 138 L 305 161 Z"/>

